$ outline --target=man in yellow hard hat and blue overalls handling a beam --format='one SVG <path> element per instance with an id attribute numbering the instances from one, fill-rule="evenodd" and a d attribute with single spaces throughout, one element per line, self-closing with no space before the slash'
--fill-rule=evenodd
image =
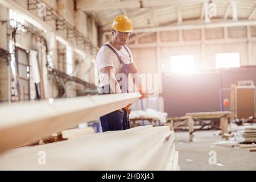
<path id="1" fill-rule="evenodd" d="M 112 38 L 109 42 L 101 47 L 96 57 L 98 72 L 100 73 L 100 93 L 127 93 L 127 78 L 129 73 L 136 74 L 138 69 L 134 64 L 131 50 L 125 46 L 133 26 L 131 20 L 125 15 L 119 15 L 114 19 L 112 24 Z M 138 82 L 134 79 L 134 82 Z M 138 86 L 138 85 L 137 85 Z M 139 92 L 142 98 L 146 94 L 142 92 L 139 86 Z M 112 113 L 102 116 L 102 131 L 126 130 L 130 128 L 129 107 L 113 111 Z"/>

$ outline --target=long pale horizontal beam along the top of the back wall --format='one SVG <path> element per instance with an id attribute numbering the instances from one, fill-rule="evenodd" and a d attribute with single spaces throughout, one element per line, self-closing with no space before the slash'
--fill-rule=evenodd
<path id="1" fill-rule="evenodd" d="M 170 26 L 161 26 L 161 27 L 145 27 L 145 28 L 135 28 L 134 33 L 139 32 L 157 32 L 157 31 L 171 31 L 171 30 L 193 30 L 200 28 L 217 28 L 217 27 L 237 27 L 237 26 L 255 26 L 256 20 L 217 20 L 210 23 L 204 23 L 203 20 L 190 21 L 183 24 L 172 24 Z M 104 32 L 108 35 L 109 32 Z"/>

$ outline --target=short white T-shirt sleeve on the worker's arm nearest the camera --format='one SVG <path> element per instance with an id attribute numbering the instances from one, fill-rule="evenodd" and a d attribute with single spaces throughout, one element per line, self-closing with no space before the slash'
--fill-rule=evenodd
<path id="1" fill-rule="evenodd" d="M 105 67 L 114 67 L 113 60 L 113 54 L 106 49 L 102 49 L 96 56 L 98 71 L 100 72 Z"/>

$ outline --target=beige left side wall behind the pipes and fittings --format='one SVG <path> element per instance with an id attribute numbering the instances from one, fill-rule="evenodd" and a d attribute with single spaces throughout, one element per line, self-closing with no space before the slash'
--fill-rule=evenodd
<path id="1" fill-rule="evenodd" d="M 24 10 L 27 10 L 27 1 L 14 1 L 18 9 L 24 8 Z M 88 38 L 88 40 L 93 44 L 93 46 L 97 47 L 97 36 L 98 36 L 98 30 L 97 30 L 97 24 L 93 16 L 87 15 L 84 13 L 84 11 L 81 10 L 74 10 L 73 1 L 72 0 L 59 0 L 59 1 L 44 1 L 47 3 L 48 6 L 50 6 L 54 11 L 56 11 L 59 15 L 61 15 L 69 24 L 74 26 L 83 36 Z M 17 7 L 13 7 L 14 11 Z M 7 23 L 1 23 L 0 24 L 0 35 L 1 35 L 1 44 L 0 48 L 5 49 L 9 51 L 9 44 L 10 44 L 10 27 L 9 27 L 9 9 L 7 7 L 4 7 L 0 5 L 0 17 L 1 20 L 6 20 Z M 19 13 L 18 11 L 15 11 L 18 13 L 19 16 L 22 16 L 22 13 Z M 31 10 L 30 11 L 31 16 L 37 15 L 38 10 Z M 26 17 L 27 18 L 27 17 Z M 94 55 L 91 55 L 91 52 L 79 52 L 76 51 L 76 48 L 73 48 L 74 41 L 72 39 L 65 39 L 65 36 L 67 36 L 67 31 L 65 30 L 58 30 L 56 35 L 55 31 L 44 31 L 40 30 L 35 26 L 34 24 L 27 21 L 27 19 L 24 18 L 24 26 L 27 26 L 34 30 L 35 32 L 38 32 L 39 35 L 43 36 L 47 39 L 47 46 L 49 54 L 51 55 L 52 60 L 52 67 L 56 68 L 62 72 L 66 72 L 66 63 L 67 60 L 65 59 L 65 49 L 67 46 L 70 46 L 72 49 L 72 76 L 75 76 L 77 78 L 80 78 L 81 80 L 84 80 L 86 82 L 95 83 L 95 52 Z M 82 23 L 81 23 L 82 22 Z M 49 27 L 55 27 L 56 24 L 54 20 L 47 20 L 46 23 Z M 6 27 L 7 26 L 7 27 Z M 53 28 L 54 29 L 54 28 Z M 64 39 L 58 39 L 62 36 Z M 6 40 L 3 40 L 6 39 Z M 30 35 L 24 34 L 21 31 L 17 31 L 16 33 L 16 44 L 15 46 L 17 48 L 22 48 L 26 51 L 37 51 L 38 53 L 38 65 L 40 70 L 40 77 L 43 84 L 43 98 L 56 98 L 58 97 L 58 89 L 57 86 L 51 76 L 47 74 L 47 59 L 46 59 L 46 48 L 42 45 L 42 43 L 39 43 L 35 37 L 32 37 Z M 79 52 L 79 53 L 78 53 Z M 30 65 L 31 67 L 31 65 Z M 9 101 L 9 88 L 10 85 L 10 71 L 9 67 L 7 66 L 7 63 L 5 60 L 0 61 L 0 100 L 1 101 Z M 30 75 L 30 80 L 32 81 L 32 75 Z M 32 84 L 33 85 L 33 84 Z M 84 89 L 84 86 L 77 84 L 75 82 L 66 82 L 65 83 L 65 89 L 67 92 L 63 97 L 76 97 L 77 90 Z M 35 88 L 31 87 L 31 93 L 35 92 Z M 31 100 L 34 100 L 35 94 L 31 95 Z"/>

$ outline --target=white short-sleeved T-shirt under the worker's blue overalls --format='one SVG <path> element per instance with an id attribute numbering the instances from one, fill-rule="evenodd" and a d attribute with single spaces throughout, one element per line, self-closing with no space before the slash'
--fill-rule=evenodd
<path id="1" fill-rule="evenodd" d="M 109 42 L 106 44 L 109 44 L 112 48 L 114 48 Z M 130 56 L 126 49 L 122 46 L 121 50 L 117 50 L 114 48 L 114 50 L 118 53 L 118 55 L 121 57 L 124 64 L 131 64 L 134 63 L 133 60 L 133 54 L 131 53 L 131 50 L 126 46 L 128 49 L 130 56 L 131 56 L 131 62 L 130 62 Z M 121 64 L 119 61 L 119 58 L 115 53 L 107 46 L 102 46 L 100 48 L 100 51 L 98 51 L 98 54 L 96 56 L 96 64 L 98 73 L 101 73 L 101 69 L 105 67 L 114 67 L 115 69 L 115 75 L 117 75 L 119 72 L 121 72 Z M 104 85 L 108 85 L 108 79 L 100 76 L 100 87 Z"/>

